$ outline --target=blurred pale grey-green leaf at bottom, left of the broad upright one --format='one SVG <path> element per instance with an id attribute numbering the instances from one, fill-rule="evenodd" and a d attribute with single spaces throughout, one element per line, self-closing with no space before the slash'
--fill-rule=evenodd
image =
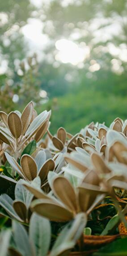
<path id="1" fill-rule="evenodd" d="M 35 256 L 31 248 L 28 234 L 26 233 L 25 228 L 18 222 L 13 221 L 13 234 L 14 241 L 16 243 L 17 249 L 23 256 Z"/>

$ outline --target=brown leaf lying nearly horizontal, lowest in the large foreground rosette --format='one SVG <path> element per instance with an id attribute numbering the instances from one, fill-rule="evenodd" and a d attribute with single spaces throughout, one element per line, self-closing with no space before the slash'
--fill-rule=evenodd
<path id="1" fill-rule="evenodd" d="M 31 210 L 44 216 L 51 221 L 70 221 L 73 218 L 72 212 L 55 203 L 51 199 L 36 199 L 31 203 Z"/>

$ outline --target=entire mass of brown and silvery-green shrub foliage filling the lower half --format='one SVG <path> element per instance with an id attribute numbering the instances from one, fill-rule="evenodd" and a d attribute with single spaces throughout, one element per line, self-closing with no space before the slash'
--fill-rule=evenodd
<path id="1" fill-rule="evenodd" d="M 126 255 L 127 120 L 53 136 L 50 115 L 0 111 L 2 256 Z"/>

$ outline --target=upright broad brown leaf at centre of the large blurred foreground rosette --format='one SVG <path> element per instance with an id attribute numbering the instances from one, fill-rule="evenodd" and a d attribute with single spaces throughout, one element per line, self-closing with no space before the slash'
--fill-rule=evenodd
<path id="1" fill-rule="evenodd" d="M 53 181 L 52 190 L 71 211 L 77 211 L 78 205 L 76 202 L 75 191 L 71 183 L 65 177 L 56 177 Z"/>

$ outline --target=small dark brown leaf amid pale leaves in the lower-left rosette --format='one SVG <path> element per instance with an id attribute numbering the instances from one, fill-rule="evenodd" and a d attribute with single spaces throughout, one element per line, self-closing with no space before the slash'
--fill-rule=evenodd
<path id="1" fill-rule="evenodd" d="M 27 209 L 26 209 L 25 203 L 21 201 L 14 201 L 13 208 L 17 213 L 17 215 L 21 218 L 21 220 L 26 221 Z"/>

